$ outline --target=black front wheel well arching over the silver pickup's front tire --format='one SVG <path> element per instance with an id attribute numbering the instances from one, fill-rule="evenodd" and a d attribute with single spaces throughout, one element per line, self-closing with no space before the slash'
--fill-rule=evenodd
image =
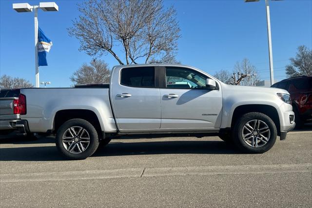
<path id="1" fill-rule="evenodd" d="M 233 116 L 232 116 L 232 122 L 231 122 L 231 128 L 234 127 L 236 120 L 245 113 L 250 112 L 259 112 L 263 113 L 267 116 L 269 116 L 274 124 L 276 125 L 277 134 L 280 133 L 280 123 L 279 123 L 279 117 L 277 110 L 275 107 L 271 105 L 265 105 L 265 104 L 247 104 L 247 105 L 240 105 L 235 108 Z"/>

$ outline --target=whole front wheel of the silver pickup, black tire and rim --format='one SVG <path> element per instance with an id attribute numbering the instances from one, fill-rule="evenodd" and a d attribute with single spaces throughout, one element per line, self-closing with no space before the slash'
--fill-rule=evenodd
<path id="1" fill-rule="evenodd" d="M 263 153 L 272 148 L 277 130 L 272 119 L 258 112 L 246 113 L 232 132 L 235 145 L 246 153 Z"/>

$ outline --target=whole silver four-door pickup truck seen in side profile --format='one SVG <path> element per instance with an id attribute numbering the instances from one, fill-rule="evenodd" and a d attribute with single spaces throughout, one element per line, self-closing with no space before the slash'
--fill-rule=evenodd
<path id="1" fill-rule="evenodd" d="M 110 84 L 21 89 L 24 129 L 56 134 L 59 152 L 85 159 L 117 135 L 210 136 L 263 153 L 294 127 L 286 90 L 233 86 L 191 66 L 122 65 Z"/>

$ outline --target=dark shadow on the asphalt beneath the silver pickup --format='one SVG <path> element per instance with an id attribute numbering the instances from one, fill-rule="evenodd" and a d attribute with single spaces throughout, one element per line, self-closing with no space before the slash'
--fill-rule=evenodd
<path id="1" fill-rule="evenodd" d="M 153 154 L 240 154 L 222 141 L 150 141 L 123 143 L 112 140 L 92 157 Z M 60 161 L 56 146 L 1 148 L 0 161 Z"/>

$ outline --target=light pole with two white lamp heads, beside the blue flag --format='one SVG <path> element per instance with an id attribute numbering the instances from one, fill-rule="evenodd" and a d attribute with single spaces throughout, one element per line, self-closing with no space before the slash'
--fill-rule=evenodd
<path id="1" fill-rule="evenodd" d="M 31 6 L 28 3 L 13 3 L 13 9 L 17 12 L 35 11 L 35 65 L 36 65 L 36 87 L 39 87 L 39 66 L 38 66 L 38 8 L 44 12 L 57 12 L 59 6 L 55 2 L 40 2 L 39 6 Z"/>

